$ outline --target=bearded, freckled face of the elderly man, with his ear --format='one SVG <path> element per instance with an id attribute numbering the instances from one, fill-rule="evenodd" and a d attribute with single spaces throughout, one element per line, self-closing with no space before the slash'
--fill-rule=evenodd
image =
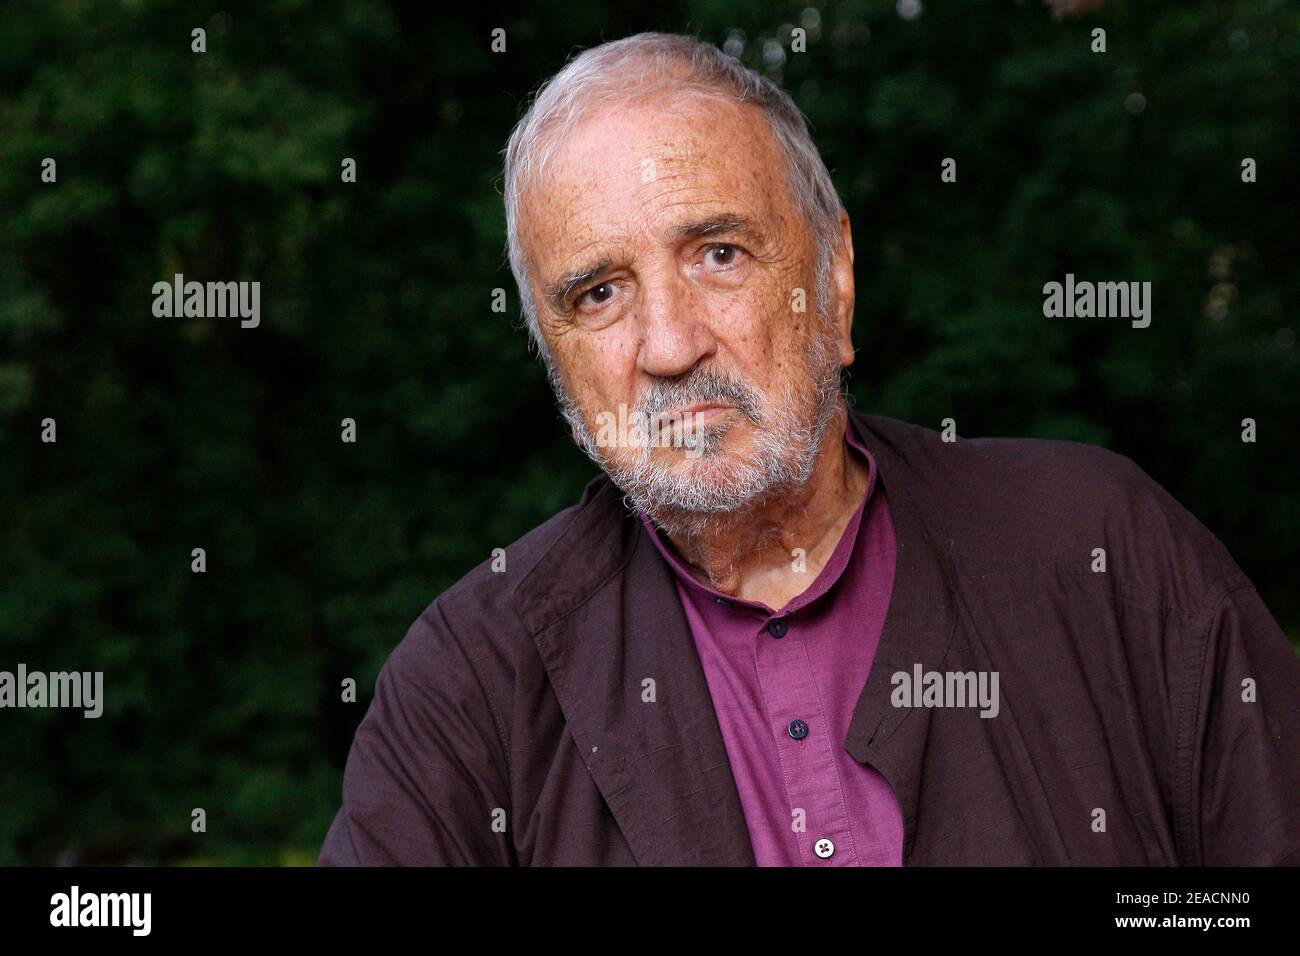
<path id="1" fill-rule="evenodd" d="M 520 219 L 560 407 L 656 518 L 734 511 L 806 481 L 853 360 L 852 255 L 819 289 L 811 228 L 759 112 L 696 105 L 589 113 Z M 629 420 L 650 429 L 610 427 Z"/>

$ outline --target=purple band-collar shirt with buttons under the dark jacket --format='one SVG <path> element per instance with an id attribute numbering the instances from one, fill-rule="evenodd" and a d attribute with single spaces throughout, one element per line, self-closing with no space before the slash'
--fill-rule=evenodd
<path id="1" fill-rule="evenodd" d="M 871 453 L 867 490 L 826 567 L 775 611 L 698 581 L 642 515 L 676 572 L 759 866 L 900 866 L 902 809 L 845 750 L 884 627 L 894 527 Z M 793 559 L 793 558 L 792 558 Z"/>

